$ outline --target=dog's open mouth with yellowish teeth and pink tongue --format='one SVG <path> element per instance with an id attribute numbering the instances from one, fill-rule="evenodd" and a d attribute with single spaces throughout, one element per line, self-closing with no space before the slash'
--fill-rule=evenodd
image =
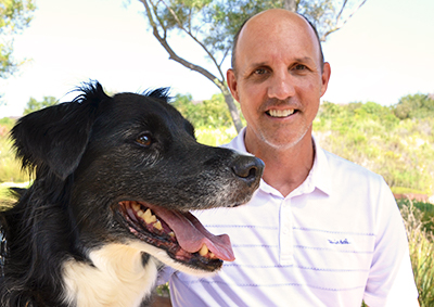
<path id="1" fill-rule="evenodd" d="M 212 234 L 189 212 L 136 201 L 123 201 L 118 205 L 131 233 L 165 250 L 177 261 L 214 271 L 221 267 L 222 260 L 235 259 L 229 236 Z"/>

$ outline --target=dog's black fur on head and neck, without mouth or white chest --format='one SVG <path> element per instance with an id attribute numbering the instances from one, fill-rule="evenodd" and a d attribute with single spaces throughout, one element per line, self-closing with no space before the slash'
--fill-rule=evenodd
<path id="1" fill-rule="evenodd" d="M 1 306 L 71 306 L 63 300 L 64 261 L 92 266 L 91 251 L 139 240 L 119 202 L 177 212 L 230 207 L 258 187 L 263 163 L 196 143 L 165 89 L 113 98 L 98 82 L 81 90 L 72 102 L 21 118 L 11 131 L 35 181 L 0 212 Z M 143 253 L 143 265 L 149 258 Z M 213 271 L 221 260 L 193 255 L 183 265 Z"/>

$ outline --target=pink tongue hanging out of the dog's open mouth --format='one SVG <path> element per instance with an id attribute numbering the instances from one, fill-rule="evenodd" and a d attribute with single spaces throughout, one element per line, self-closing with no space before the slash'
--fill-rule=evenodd
<path id="1" fill-rule="evenodd" d="M 190 213 L 173 212 L 162 207 L 153 207 L 152 210 L 175 232 L 182 250 L 195 253 L 205 244 L 217 258 L 227 261 L 235 259 L 228 234 L 214 235 Z"/>

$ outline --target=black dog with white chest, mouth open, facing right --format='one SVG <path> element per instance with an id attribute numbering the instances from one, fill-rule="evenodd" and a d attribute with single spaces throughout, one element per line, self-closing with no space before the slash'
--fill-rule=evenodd
<path id="1" fill-rule="evenodd" d="M 234 259 L 190 210 L 248 202 L 264 163 L 197 143 L 167 89 L 80 90 L 11 130 L 34 182 L 0 213 L 1 306 L 148 306 L 164 265 L 206 276 Z"/>

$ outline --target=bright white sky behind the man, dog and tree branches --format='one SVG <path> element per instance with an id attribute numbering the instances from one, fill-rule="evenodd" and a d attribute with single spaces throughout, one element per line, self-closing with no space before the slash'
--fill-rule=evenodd
<path id="1" fill-rule="evenodd" d="M 110 91 L 171 87 L 173 95 L 191 93 L 195 100 L 218 93 L 202 75 L 168 60 L 139 1 L 36 2 L 30 27 L 14 44 L 16 59 L 31 61 L 15 76 L 0 79 L 7 103 L 0 106 L 0 118 L 21 115 L 30 97 L 68 101 L 76 93 L 65 94 L 89 79 Z M 177 37 L 173 46 L 187 60 L 207 64 L 186 37 Z M 323 52 L 332 67 L 323 100 L 391 105 L 410 93 L 433 93 L 434 0 L 368 0 L 329 36 Z"/>

